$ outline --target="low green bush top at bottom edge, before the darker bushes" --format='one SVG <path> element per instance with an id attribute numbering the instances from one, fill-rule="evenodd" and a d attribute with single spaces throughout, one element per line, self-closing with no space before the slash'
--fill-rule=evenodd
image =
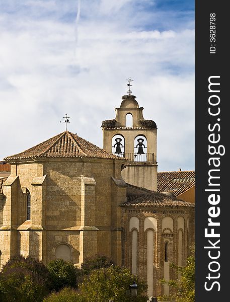
<path id="1" fill-rule="evenodd" d="M 53 292 L 43 302 L 86 302 L 86 300 L 73 288 L 64 287 L 59 292 Z"/>

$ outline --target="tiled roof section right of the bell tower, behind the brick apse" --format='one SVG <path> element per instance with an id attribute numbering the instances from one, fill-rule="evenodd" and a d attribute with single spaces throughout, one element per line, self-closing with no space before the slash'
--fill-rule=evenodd
<path id="1" fill-rule="evenodd" d="M 158 192 L 171 192 L 176 197 L 195 185 L 195 171 L 158 172 Z"/>

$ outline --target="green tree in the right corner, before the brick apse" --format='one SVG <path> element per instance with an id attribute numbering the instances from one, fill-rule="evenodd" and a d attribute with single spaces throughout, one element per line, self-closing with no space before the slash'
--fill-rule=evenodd
<path id="1" fill-rule="evenodd" d="M 195 248 L 191 248 L 191 256 L 187 258 L 186 266 L 171 266 L 177 269 L 181 276 L 177 280 L 162 280 L 163 283 L 168 284 L 174 288 L 175 292 L 170 295 L 163 295 L 159 297 L 159 301 L 175 300 L 176 302 L 194 302 L 195 301 Z"/>

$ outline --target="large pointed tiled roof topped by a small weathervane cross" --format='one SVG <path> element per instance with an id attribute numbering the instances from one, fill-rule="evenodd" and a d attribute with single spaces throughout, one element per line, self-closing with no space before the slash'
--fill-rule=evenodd
<path id="1" fill-rule="evenodd" d="M 30 159 L 30 158 L 99 158 L 99 159 L 118 159 L 106 150 L 94 145 L 93 143 L 73 134 L 64 131 L 36 146 L 25 150 L 19 154 L 9 156 L 4 160 Z"/>

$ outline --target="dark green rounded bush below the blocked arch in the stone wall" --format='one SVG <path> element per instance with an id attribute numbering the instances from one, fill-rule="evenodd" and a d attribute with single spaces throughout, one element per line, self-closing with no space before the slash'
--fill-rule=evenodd
<path id="1" fill-rule="evenodd" d="M 65 286 L 76 287 L 76 269 L 72 262 L 56 259 L 50 261 L 47 268 L 53 281 L 53 290 L 58 291 Z"/>

